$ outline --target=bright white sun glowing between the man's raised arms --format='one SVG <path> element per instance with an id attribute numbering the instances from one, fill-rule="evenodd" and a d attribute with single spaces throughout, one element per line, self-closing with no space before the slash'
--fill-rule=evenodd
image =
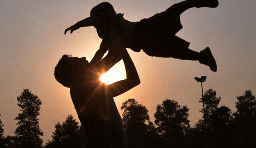
<path id="1" fill-rule="evenodd" d="M 107 71 L 106 73 L 103 73 L 100 76 L 99 80 L 105 83 L 106 85 L 109 85 L 116 81 L 125 79 L 123 69 L 124 69 L 123 65 L 121 63 L 117 63 L 111 69 L 109 69 L 109 71 Z"/>

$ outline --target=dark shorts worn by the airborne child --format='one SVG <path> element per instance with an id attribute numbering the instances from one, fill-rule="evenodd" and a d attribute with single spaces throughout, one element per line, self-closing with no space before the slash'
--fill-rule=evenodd
<path id="1" fill-rule="evenodd" d="M 190 43 L 175 36 L 182 29 L 176 9 L 174 4 L 164 12 L 137 22 L 130 36 L 131 49 L 142 49 L 155 57 L 179 58 Z"/>

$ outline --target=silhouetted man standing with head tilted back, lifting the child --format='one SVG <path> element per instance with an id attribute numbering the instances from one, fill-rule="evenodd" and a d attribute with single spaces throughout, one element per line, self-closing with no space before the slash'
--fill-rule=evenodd
<path id="1" fill-rule="evenodd" d="M 70 88 L 74 107 L 88 139 L 86 148 L 128 148 L 113 97 L 139 85 L 140 79 L 125 47 L 122 50 L 126 79 L 110 85 L 100 82 L 102 70 L 85 57 L 63 55 L 54 69 L 55 79 Z"/>

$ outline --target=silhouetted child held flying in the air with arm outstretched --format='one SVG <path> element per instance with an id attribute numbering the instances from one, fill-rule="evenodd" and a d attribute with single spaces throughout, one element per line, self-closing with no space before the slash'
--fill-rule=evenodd
<path id="1" fill-rule="evenodd" d="M 217 6 L 218 0 L 185 0 L 150 18 L 130 22 L 123 18 L 123 14 L 116 14 L 110 3 L 102 2 L 92 8 L 90 17 L 70 26 L 64 34 L 69 30 L 72 33 L 80 27 L 96 28 L 102 42 L 91 63 L 100 61 L 106 51 L 108 55 L 104 60 L 112 60 L 112 65 L 121 60 L 122 51 L 112 47 L 113 44 L 117 44 L 112 38 L 113 34 L 119 34 L 121 40 L 119 43 L 133 51 L 139 52 L 142 49 L 150 56 L 197 60 L 215 72 L 217 65 L 209 47 L 200 52 L 193 51 L 188 48 L 189 42 L 175 34 L 182 29 L 180 14 L 185 10 L 193 7 L 216 8 Z M 108 26 L 115 26 L 116 29 L 113 31 Z"/>

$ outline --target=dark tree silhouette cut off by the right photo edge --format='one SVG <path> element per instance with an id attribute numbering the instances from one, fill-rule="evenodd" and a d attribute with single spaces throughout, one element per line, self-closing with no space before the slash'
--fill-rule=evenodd
<path id="1" fill-rule="evenodd" d="M 256 146 L 256 99 L 252 91 L 246 90 L 244 95 L 237 97 L 234 113 L 238 140 L 244 148 Z"/>

